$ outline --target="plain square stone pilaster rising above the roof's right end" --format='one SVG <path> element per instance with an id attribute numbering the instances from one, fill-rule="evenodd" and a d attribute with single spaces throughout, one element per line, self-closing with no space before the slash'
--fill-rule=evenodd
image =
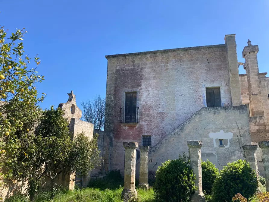
<path id="1" fill-rule="evenodd" d="M 242 104 L 239 81 L 238 61 L 236 54 L 235 34 L 225 35 L 226 56 L 229 74 L 229 88 L 233 106 Z"/>

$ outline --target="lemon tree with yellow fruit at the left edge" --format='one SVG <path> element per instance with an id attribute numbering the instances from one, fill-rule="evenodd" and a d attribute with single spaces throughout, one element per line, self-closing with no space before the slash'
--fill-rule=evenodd
<path id="1" fill-rule="evenodd" d="M 39 58 L 24 52 L 27 32 L 18 29 L 8 36 L 7 31 L 0 28 L 0 179 L 4 183 L 12 180 L 13 170 L 23 166 L 29 151 L 35 149 L 30 137 L 39 117 L 39 103 L 45 98 L 36 89 L 36 83 L 44 80 L 36 71 Z"/>

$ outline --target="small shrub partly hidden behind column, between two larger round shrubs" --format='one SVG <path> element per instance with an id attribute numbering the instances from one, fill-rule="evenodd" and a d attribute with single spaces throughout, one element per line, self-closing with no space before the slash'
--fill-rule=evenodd
<path id="1" fill-rule="evenodd" d="M 213 163 L 208 161 L 208 159 L 202 161 L 202 186 L 204 194 L 211 194 L 213 183 L 218 175 L 219 170 Z"/>

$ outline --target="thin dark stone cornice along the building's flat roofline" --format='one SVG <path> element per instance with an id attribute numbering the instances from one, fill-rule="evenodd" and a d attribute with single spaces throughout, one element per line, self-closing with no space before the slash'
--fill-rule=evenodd
<path id="1" fill-rule="evenodd" d="M 146 54 L 155 54 L 155 53 L 166 53 L 166 52 L 175 52 L 175 51 L 188 51 L 188 50 L 199 50 L 199 49 L 214 49 L 225 47 L 225 44 L 209 45 L 209 46 L 194 46 L 186 48 L 176 48 L 176 49 L 163 49 L 155 51 L 145 51 L 145 52 L 135 52 L 135 53 L 124 53 L 124 54 L 115 54 L 115 55 L 106 55 L 105 58 L 115 58 L 115 57 L 126 57 L 134 55 L 146 55 Z"/>

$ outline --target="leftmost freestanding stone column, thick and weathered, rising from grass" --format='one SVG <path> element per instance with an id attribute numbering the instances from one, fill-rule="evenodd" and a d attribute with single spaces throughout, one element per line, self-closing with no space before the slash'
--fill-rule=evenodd
<path id="1" fill-rule="evenodd" d="M 136 184 L 136 148 L 137 142 L 124 142 L 125 164 L 124 164 L 124 189 L 121 197 L 124 201 L 137 200 Z"/>

